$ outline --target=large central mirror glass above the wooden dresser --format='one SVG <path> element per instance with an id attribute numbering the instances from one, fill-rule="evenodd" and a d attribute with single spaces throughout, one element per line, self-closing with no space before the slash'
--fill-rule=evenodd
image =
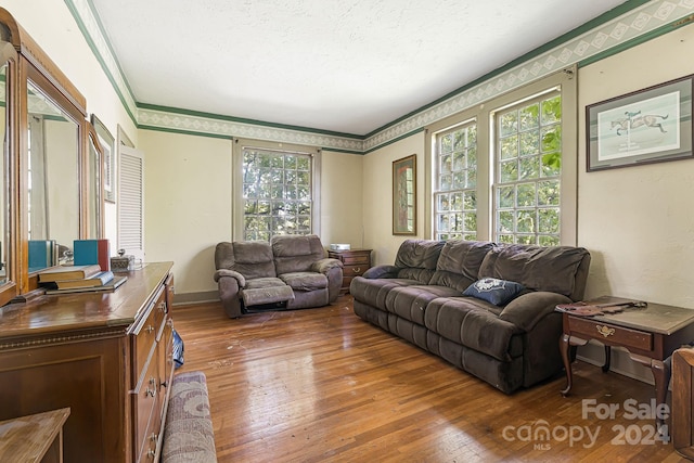
<path id="1" fill-rule="evenodd" d="M 28 271 L 57 265 L 79 235 L 79 124 L 27 82 Z M 63 248 L 63 247 L 61 247 Z"/>

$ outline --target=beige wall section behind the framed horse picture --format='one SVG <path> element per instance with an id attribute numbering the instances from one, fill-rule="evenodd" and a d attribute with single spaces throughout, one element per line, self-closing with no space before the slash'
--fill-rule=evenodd
<path id="1" fill-rule="evenodd" d="M 579 114 L 587 104 L 694 73 L 694 26 L 579 70 Z M 586 124 L 579 118 L 579 163 Z M 614 170 L 579 169 L 578 242 L 593 260 L 588 296 L 617 294 L 694 308 L 694 160 Z"/>

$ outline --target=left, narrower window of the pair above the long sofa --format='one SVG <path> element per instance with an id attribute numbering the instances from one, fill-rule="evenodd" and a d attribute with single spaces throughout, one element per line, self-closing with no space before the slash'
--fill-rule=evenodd
<path id="1" fill-rule="evenodd" d="M 436 240 L 477 239 L 477 125 L 436 136 Z"/>

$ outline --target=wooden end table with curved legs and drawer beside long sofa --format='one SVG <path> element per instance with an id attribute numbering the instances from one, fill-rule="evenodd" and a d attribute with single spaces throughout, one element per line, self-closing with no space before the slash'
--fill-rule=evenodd
<path id="1" fill-rule="evenodd" d="M 603 296 L 587 304 L 603 305 L 615 299 Z M 560 339 L 566 369 L 563 396 L 568 395 L 573 386 L 570 359 L 576 346 L 596 340 L 605 346 L 604 372 L 609 371 L 609 349 L 615 346 L 626 348 L 632 360 L 648 366 L 655 380 L 656 402 L 660 404 L 666 403 L 670 383 L 670 368 L 665 360 L 676 349 L 694 340 L 694 310 L 647 303 L 644 308 L 627 307 L 618 313 L 593 317 L 563 312 L 563 331 Z M 656 422 L 658 429 L 665 424 L 663 420 Z"/>

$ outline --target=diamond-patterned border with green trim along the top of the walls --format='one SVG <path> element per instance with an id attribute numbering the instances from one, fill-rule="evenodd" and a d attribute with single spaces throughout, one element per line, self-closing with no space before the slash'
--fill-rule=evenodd
<path id="1" fill-rule="evenodd" d="M 509 69 L 490 73 L 475 85 L 463 87 L 450 97 L 432 103 L 367 137 L 330 133 L 310 128 L 291 128 L 262 121 L 244 121 L 229 116 L 200 114 L 181 110 L 139 107 L 118 64 L 91 0 L 65 0 L 85 39 L 113 85 L 124 107 L 139 128 L 208 137 L 243 137 L 260 140 L 308 144 L 347 153 L 369 153 L 380 146 L 424 129 L 427 125 L 480 104 L 498 94 L 523 87 L 574 65 L 595 61 L 604 55 L 639 43 L 639 38 L 667 34 L 679 20 L 694 13 L 694 0 L 653 0 L 640 3 L 590 30 L 568 38 L 561 44 L 527 55 L 527 60 Z M 637 2 L 634 2 L 637 3 Z M 576 29 L 576 30 L 580 30 Z M 642 39 L 641 41 L 643 41 Z"/>

